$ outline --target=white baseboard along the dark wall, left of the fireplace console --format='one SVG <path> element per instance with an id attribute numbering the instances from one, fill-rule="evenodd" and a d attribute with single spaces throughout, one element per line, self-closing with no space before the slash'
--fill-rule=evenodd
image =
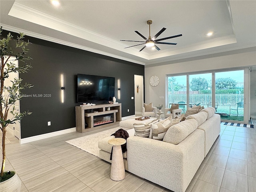
<path id="1" fill-rule="evenodd" d="M 45 138 L 49 138 L 49 137 L 53 137 L 53 136 L 58 136 L 58 135 L 62 135 L 62 134 L 66 134 L 66 133 L 71 133 L 71 132 L 75 132 L 76 128 L 70 128 L 70 129 L 64 129 L 64 130 L 60 130 L 60 131 L 55 131 L 55 132 L 51 132 L 51 133 L 46 133 L 46 134 L 41 134 L 41 135 L 36 135 L 36 136 L 32 136 L 32 137 L 27 137 L 24 139 L 20 139 L 20 144 L 24 144 L 24 143 L 29 143 L 32 141 L 37 141 L 40 139 L 45 139 Z"/>

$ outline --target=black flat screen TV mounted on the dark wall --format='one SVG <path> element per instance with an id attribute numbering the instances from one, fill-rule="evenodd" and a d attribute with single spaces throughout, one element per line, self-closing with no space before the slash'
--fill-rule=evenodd
<path id="1" fill-rule="evenodd" d="M 77 74 L 77 102 L 104 104 L 115 96 L 115 78 Z"/>

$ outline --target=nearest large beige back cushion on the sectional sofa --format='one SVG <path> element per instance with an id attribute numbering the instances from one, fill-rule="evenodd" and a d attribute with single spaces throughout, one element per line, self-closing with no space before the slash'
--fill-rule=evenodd
<path id="1" fill-rule="evenodd" d="M 164 142 L 179 144 L 197 128 L 195 119 L 188 119 L 171 126 L 164 135 Z"/>

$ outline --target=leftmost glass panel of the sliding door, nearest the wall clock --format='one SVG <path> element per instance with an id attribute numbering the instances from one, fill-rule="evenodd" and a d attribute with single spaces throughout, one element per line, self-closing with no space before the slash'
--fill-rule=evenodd
<path id="1" fill-rule="evenodd" d="M 172 103 L 179 104 L 182 113 L 186 112 L 186 80 L 186 75 L 168 77 L 168 107 L 170 108 Z"/>

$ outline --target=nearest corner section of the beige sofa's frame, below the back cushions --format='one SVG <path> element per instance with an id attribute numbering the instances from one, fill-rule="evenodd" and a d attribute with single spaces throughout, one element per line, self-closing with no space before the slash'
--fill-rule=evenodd
<path id="1" fill-rule="evenodd" d="M 204 132 L 192 132 L 178 145 L 131 136 L 128 171 L 176 192 L 184 192 L 204 160 Z"/>

